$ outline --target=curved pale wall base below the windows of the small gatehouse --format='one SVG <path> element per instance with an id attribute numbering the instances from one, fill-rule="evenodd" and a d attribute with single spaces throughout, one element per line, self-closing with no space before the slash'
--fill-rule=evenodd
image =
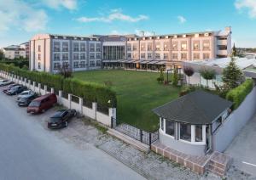
<path id="1" fill-rule="evenodd" d="M 205 155 L 205 146 L 204 144 L 192 144 L 184 143 L 174 138 L 166 136 L 164 132 L 159 130 L 159 139 L 160 143 L 165 144 L 166 146 L 176 149 L 184 154 L 188 155 Z"/>

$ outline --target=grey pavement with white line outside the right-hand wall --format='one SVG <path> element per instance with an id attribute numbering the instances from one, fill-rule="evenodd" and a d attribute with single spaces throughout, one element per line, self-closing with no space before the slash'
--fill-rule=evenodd
<path id="1" fill-rule="evenodd" d="M 225 151 L 233 157 L 233 165 L 256 176 L 256 115 L 242 128 Z"/>

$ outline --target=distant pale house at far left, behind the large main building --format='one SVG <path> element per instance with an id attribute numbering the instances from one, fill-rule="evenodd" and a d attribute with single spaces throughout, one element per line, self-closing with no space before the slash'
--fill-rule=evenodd
<path id="1" fill-rule="evenodd" d="M 9 47 L 6 48 L 2 48 L 3 53 L 4 53 L 4 57 L 6 59 L 15 59 L 15 58 L 27 58 L 28 56 L 26 56 L 26 50 L 29 50 L 29 46 L 28 47 L 23 47 L 21 45 L 11 45 Z"/>

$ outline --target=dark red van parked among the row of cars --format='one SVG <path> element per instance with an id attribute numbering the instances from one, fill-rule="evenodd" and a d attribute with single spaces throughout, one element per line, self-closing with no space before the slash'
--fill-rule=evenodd
<path id="1" fill-rule="evenodd" d="M 47 93 L 39 98 L 33 99 L 28 105 L 26 112 L 32 114 L 42 113 L 56 103 L 57 97 L 55 93 Z"/>

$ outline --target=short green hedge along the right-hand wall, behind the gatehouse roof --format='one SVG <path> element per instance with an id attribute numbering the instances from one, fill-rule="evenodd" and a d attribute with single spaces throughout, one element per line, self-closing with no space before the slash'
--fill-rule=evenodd
<path id="1" fill-rule="evenodd" d="M 241 83 L 240 86 L 231 89 L 227 93 L 226 98 L 234 103 L 233 109 L 236 109 L 252 90 L 253 80 L 247 79 L 245 82 Z"/>

